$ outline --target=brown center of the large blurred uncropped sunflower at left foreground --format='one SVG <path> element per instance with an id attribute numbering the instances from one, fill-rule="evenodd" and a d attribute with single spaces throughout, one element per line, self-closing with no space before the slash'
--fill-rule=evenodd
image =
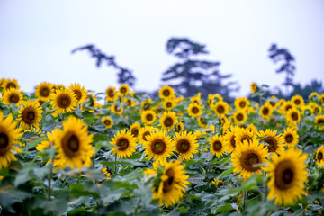
<path id="1" fill-rule="evenodd" d="M 80 140 L 74 132 L 67 132 L 62 139 L 62 148 L 67 157 L 74 157 L 80 148 Z"/>

